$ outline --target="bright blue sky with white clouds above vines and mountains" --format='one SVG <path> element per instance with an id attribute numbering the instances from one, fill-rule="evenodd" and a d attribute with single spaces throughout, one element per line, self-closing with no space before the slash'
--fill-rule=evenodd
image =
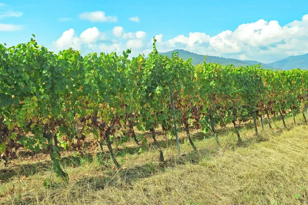
<path id="1" fill-rule="evenodd" d="M 190 52 L 262 63 L 308 53 L 307 0 L 1 1 L 0 43 L 82 54 Z"/>

